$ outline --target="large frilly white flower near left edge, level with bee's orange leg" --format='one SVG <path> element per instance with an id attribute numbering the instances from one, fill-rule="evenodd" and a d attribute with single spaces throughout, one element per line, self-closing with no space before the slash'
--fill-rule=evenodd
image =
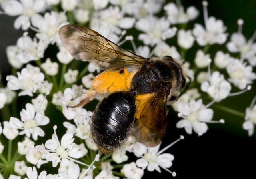
<path id="1" fill-rule="evenodd" d="M 23 90 L 18 95 L 33 96 L 33 93 L 40 88 L 44 81 L 44 74 L 40 72 L 38 67 L 30 64 L 26 68 L 22 68 L 21 72 L 17 72 L 17 76 L 9 75 L 6 77 L 7 86 L 10 90 Z"/>

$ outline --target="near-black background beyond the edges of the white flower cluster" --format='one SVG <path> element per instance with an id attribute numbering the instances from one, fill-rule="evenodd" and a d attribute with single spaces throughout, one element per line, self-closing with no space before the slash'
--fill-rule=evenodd
<path id="1" fill-rule="evenodd" d="M 208 4 L 209 16 L 215 16 L 217 19 L 223 20 L 224 24 L 228 27 L 227 32 L 229 34 L 237 31 L 238 26 L 236 22 L 239 18 L 244 20 L 243 34 L 247 39 L 256 30 L 255 0 L 209 0 Z M 201 1 L 182 0 L 182 5 L 185 8 L 191 5 L 196 6 L 200 10 L 200 16 L 196 19 L 196 22 L 204 24 Z M 0 15 L 0 70 L 3 78 L 7 74 L 10 74 L 11 70 L 7 62 L 5 48 L 8 45 L 16 44 L 17 39 L 23 33 L 13 28 L 15 19 L 16 17 Z M 193 24 L 190 23 L 188 27 L 191 29 Z M 216 49 L 226 51 L 225 47 L 212 46 L 209 52 L 214 54 Z M 254 82 L 252 90 L 240 96 L 229 97 L 222 101 L 222 104 L 244 112 L 255 95 L 255 89 L 256 83 Z M 238 89 L 236 90 L 238 91 Z M 163 139 L 162 147 L 175 141 L 180 135 L 185 136 L 184 140 L 166 151 L 175 157 L 170 170 L 177 173 L 177 179 L 192 177 L 256 178 L 256 134 L 248 137 L 247 131 L 242 129 L 243 118 L 222 112 L 218 109 L 214 109 L 214 112 L 214 120 L 223 118 L 225 119 L 225 124 L 210 124 L 208 132 L 201 137 L 198 137 L 195 133 L 188 135 L 184 129 L 177 129 L 175 127 L 178 121 L 176 113 L 173 111 L 169 112 L 168 131 Z M 163 169 L 161 174 L 156 171 L 146 171 L 144 174 L 144 178 L 153 177 L 172 178 Z"/>

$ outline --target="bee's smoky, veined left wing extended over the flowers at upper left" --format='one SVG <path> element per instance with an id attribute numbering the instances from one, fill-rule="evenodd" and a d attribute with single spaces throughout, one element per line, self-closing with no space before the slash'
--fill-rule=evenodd
<path id="1" fill-rule="evenodd" d="M 62 44 L 75 59 L 88 60 L 102 70 L 109 68 L 121 70 L 129 66 L 141 66 L 146 59 L 84 26 L 62 26 L 59 35 Z"/>

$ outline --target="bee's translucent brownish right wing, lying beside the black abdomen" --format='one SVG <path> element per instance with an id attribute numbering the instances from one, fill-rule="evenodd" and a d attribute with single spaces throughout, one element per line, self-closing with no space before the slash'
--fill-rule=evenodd
<path id="1" fill-rule="evenodd" d="M 158 145 L 167 128 L 166 101 L 170 89 L 163 88 L 148 99 L 132 131 L 132 135 L 147 146 Z"/>

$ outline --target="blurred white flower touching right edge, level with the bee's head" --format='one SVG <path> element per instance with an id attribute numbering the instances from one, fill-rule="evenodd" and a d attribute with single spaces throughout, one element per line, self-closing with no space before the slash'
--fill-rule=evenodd
<path id="1" fill-rule="evenodd" d="M 230 76 L 228 80 L 237 86 L 240 90 L 246 88 L 248 84 L 252 84 L 252 80 L 256 79 L 256 74 L 252 71 L 252 66 L 246 66 L 241 60 L 233 60 L 227 66 L 227 72 Z"/>

